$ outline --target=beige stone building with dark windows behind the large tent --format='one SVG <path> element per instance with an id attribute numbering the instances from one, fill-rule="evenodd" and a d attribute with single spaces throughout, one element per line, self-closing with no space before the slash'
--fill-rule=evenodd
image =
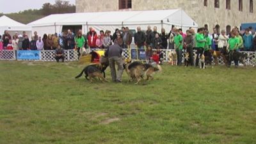
<path id="1" fill-rule="evenodd" d="M 76 12 L 182 8 L 199 27 L 227 29 L 256 22 L 256 0 L 76 0 Z"/>

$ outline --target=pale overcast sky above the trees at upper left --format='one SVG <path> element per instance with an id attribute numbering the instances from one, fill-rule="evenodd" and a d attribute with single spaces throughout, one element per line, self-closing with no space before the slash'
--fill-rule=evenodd
<path id="1" fill-rule="evenodd" d="M 65 1 L 76 4 L 76 0 Z M 54 4 L 55 0 L 0 0 L 0 13 L 15 13 L 22 10 L 40 9 L 44 3 Z"/>

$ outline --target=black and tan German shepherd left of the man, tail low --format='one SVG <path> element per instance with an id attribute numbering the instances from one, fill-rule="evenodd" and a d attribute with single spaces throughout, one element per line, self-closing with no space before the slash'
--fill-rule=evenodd
<path id="1" fill-rule="evenodd" d="M 95 64 L 95 65 L 88 65 L 86 67 L 84 67 L 84 69 L 82 70 L 82 72 L 76 76 L 76 79 L 81 77 L 83 75 L 83 73 L 85 74 L 85 78 L 87 80 L 90 81 L 90 83 L 92 83 L 92 78 L 94 77 L 99 77 L 99 80 L 102 82 L 108 82 L 108 80 L 102 75 L 102 70 L 100 70 L 100 65 Z M 88 79 L 89 77 L 89 79 Z"/>

